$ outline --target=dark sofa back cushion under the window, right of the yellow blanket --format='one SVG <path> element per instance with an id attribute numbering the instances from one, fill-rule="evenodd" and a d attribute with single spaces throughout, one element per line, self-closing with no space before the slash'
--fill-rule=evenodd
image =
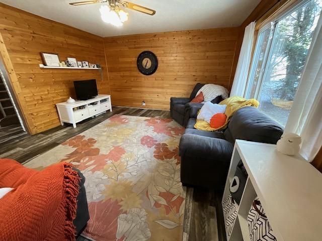
<path id="1" fill-rule="evenodd" d="M 238 109 L 231 117 L 224 136 L 234 143 L 236 139 L 276 144 L 283 128 L 255 107 Z"/>

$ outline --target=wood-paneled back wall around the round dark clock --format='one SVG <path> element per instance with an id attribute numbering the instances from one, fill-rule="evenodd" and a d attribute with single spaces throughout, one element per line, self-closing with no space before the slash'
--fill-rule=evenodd
<path id="1" fill-rule="evenodd" d="M 198 82 L 229 87 L 239 28 L 140 34 L 104 39 L 112 102 L 169 109 L 170 97 L 188 97 Z M 139 53 L 158 59 L 152 75 L 136 67 Z"/>

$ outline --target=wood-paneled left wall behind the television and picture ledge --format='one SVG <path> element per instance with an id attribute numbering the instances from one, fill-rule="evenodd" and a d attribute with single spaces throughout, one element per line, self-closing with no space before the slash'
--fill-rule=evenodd
<path id="1" fill-rule="evenodd" d="M 103 38 L 0 4 L 0 50 L 31 134 L 59 124 L 55 103 L 75 97 L 73 80 L 95 78 L 110 93 Z M 40 52 L 102 65 L 99 70 L 41 69 Z"/>

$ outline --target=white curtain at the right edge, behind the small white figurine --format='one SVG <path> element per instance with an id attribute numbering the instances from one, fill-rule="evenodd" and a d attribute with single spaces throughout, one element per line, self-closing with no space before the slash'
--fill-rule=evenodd
<path id="1" fill-rule="evenodd" d="M 309 162 L 322 146 L 322 18 L 312 38 L 285 132 L 302 138 L 300 154 Z"/>

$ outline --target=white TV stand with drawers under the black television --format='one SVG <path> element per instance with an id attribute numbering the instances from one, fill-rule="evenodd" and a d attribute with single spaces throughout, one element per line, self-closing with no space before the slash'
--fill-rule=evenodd
<path id="1" fill-rule="evenodd" d="M 61 125 L 70 123 L 76 128 L 76 123 L 84 119 L 112 111 L 111 95 L 99 94 L 93 99 L 76 100 L 74 103 L 61 102 L 56 107 Z"/>

